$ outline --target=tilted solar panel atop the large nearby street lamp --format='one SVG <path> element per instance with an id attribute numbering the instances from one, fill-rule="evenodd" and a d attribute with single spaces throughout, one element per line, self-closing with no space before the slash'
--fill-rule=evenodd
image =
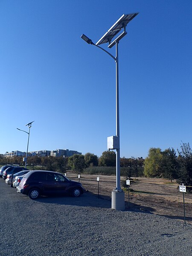
<path id="1" fill-rule="evenodd" d="M 123 14 L 119 20 L 102 36 L 96 45 L 111 43 L 111 39 L 116 36 L 121 29 L 125 28 L 127 24 L 137 15 L 138 13 Z"/>

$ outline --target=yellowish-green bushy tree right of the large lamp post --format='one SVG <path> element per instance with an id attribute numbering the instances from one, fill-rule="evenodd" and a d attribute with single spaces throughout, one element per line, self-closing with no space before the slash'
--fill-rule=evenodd
<path id="1" fill-rule="evenodd" d="M 147 177 L 160 177 L 160 163 L 163 155 L 160 148 L 150 148 L 145 159 L 144 175 Z"/>

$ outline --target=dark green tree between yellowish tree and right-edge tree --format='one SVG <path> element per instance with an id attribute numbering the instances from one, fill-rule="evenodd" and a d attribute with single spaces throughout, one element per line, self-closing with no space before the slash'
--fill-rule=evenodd
<path id="1" fill-rule="evenodd" d="M 177 178 L 178 162 L 174 148 L 168 148 L 162 152 L 160 170 L 164 178 L 174 180 Z"/>

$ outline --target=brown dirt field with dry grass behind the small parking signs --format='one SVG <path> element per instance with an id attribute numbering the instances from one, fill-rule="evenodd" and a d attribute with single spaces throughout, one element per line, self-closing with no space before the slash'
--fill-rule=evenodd
<path id="1" fill-rule="evenodd" d="M 81 175 L 80 182 L 98 198 L 98 175 Z M 71 172 L 67 177 L 79 181 L 78 175 Z M 123 180 L 123 177 L 122 177 Z M 153 214 L 183 220 L 183 193 L 178 185 L 169 180 L 135 177 L 130 185 L 130 210 L 140 210 Z M 111 200 L 111 191 L 116 187 L 115 176 L 99 176 L 99 199 Z M 186 222 L 192 224 L 192 194 L 185 193 Z M 128 209 L 128 191 L 125 191 L 125 208 Z"/>

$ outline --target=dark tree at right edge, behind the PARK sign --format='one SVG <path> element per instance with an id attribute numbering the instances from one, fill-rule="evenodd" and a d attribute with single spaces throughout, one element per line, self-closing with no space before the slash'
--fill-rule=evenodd
<path id="1" fill-rule="evenodd" d="M 177 183 L 185 186 L 192 186 L 192 150 L 189 143 L 182 143 L 181 150 L 178 150 L 178 164 Z M 192 191 L 192 188 L 187 188 Z"/>

